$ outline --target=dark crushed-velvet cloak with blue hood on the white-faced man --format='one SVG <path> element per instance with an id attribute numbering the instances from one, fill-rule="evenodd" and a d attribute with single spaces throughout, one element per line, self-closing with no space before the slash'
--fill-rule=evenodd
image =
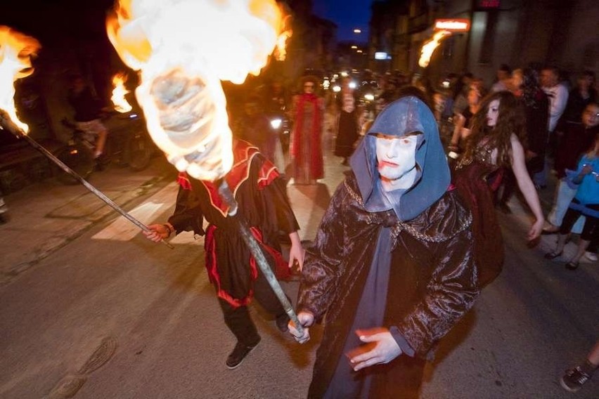
<path id="1" fill-rule="evenodd" d="M 321 398 L 340 362 L 356 308 L 368 294 L 366 281 L 380 233 L 390 229 L 387 251 L 388 289 L 382 323 L 404 353 L 386 365 L 367 367 L 371 398 L 418 395 L 424 360 L 453 325 L 470 309 L 479 293 L 472 261 L 470 211 L 449 188 L 449 166 L 437 125 L 428 107 L 415 97 L 390 104 L 369 133 L 403 136 L 418 131 L 418 178 L 408 190 L 385 192 L 375 156 L 375 136 L 368 134 L 350 160 L 352 173 L 337 188 L 307 249 L 297 308 L 326 318 L 314 364 L 309 398 Z M 398 342 L 399 344 L 399 342 Z M 349 367 L 349 363 L 347 363 Z"/>

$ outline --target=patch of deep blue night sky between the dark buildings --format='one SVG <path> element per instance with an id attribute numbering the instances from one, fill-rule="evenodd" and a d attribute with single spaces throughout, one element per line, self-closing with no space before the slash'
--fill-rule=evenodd
<path id="1" fill-rule="evenodd" d="M 314 13 L 337 24 L 337 40 L 368 41 L 372 0 L 316 0 Z M 354 28 L 361 34 L 355 34 Z"/>

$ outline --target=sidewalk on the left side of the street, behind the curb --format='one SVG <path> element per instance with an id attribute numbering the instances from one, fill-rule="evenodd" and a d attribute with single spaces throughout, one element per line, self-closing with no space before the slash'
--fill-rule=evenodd
<path id="1" fill-rule="evenodd" d="M 95 172 L 89 183 L 123 209 L 154 185 L 176 176 L 164 159 L 155 157 L 145 171 L 110 166 Z M 79 237 L 94 223 L 117 212 L 83 185 L 64 185 L 56 178 L 4 196 L 8 222 L 0 225 L 0 286 Z"/>

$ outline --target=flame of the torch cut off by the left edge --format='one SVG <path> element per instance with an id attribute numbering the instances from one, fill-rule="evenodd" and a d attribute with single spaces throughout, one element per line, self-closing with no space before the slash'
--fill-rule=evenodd
<path id="1" fill-rule="evenodd" d="M 33 37 L 0 26 L 0 109 L 5 110 L 13 123 L 25 133 L 29 126 L 17 117 L 14 83 L 33 73 L 31 58 L 39 48 L 39 41 Z"/>

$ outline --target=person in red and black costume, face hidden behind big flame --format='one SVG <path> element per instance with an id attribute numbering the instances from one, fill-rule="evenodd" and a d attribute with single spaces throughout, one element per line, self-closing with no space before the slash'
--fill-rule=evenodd
<path id="1" fill-rule="evenodd" d="M 267 261 L 278 278 L 290 275 L 297 261 L 303 266 L 304 250 L 297 230 L 299 225 L 289 204 L 285 181 L 277 169 L 250 143 L 233 139 L 233 168 L 225 176 L 238 202 L 235 216 L 218 194 L 216 183 L 179 175 L 179 194 L 174 214 L 167 223 L 148 226 L 148 239 L 158 242 L 173 233 L 193 231 L 205 235 L 206 268 L 210 282 L 224 314 L 225 324 L 238 342 L 226 365 L 238 367 L 260 341 L 247 305 L 252 298 L 276 318 L 281 332 L 286 332 L 289 317 L 276 294 L 259 270 L 238 230 L 236 218 L 243 218 L 261 244 Z M 209 223 L 204 229 L 203 219 Z M 289 235 L 291 249 L 286 263 L 281 255 L 278 237 Z"/>

